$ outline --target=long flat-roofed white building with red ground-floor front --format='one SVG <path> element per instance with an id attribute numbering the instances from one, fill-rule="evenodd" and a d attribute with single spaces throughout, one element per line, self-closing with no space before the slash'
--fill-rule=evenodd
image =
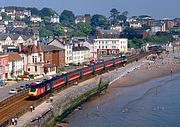
<path id="1" fill-rule="evenodd" d="M 97 54 L 118 54 L 127 52 L 128 39 L 126 38 L 102 38 L 94 40 L 94 51 Z"/>

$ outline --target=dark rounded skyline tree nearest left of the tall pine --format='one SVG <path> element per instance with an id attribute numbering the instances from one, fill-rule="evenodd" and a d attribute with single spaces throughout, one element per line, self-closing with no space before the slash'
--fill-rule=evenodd
<path id="1" fill-rule="evenodd" d="M 109 26 L 108 20 L 103 15 L 93 15 L 91 19 L 91 25 L 92 27 L 101 27 L 101 28 L 107 28 Z"/>

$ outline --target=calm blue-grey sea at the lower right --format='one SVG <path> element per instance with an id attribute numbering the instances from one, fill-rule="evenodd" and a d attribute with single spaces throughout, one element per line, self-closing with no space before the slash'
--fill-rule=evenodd
<path id="1" fill-rule="evenodd" d="M 69 127 L 180 127 L 180 74 L 112 86 L 67 120 Z"/>

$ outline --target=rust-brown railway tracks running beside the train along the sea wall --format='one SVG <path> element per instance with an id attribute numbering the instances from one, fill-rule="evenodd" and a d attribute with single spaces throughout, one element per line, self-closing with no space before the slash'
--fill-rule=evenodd
<path id="1" fill-rule="evenodd" d="M 147 54 L 139 54 L 139 55 L 133 55 L 133 56 L 129 56 L 127 57 L 127 63 L 131 63 L 133 61 L 136 61 L 140 58 L 145 57 Z M 121 67 L 122 65 L 119 65 L 118 67 Z M 115 67 L 113 68 L 115 69 Z M 103 72 L 105 73 L 105 72 Z M 92 78 L 94 76 L 89 76 L 88 78 L 84 78 L 79 82 L 82 82 L 84 80 L 87 80 L 89 78 Z M 55 89 L 53 91 L 53 93 L 57 93 L 69 86 L 74 85 L 74 82 L 72 82 L 72 84 L 68 84 L 68 86 L 62 86 L 58 89 Z M 20 117 L 21 115 L 23 115 L 24 113 L 26 113 L 27 111 L 29 111 L 29 107 L 30 105 L 34 105 L 37 106 L 40 103 L 42 103 L 44 100 L 46 100 L 47 97 L 49 97 L 50 95 L 46 95 L 43 98 L 40 98 L 39 100 L 35 100 L 35 101 L 30 101 L 28 100 L 28 91 L 25 91 L 23 94 L 21 95 L 17 95 L 16 97 L 12 98 L 12 99 L 7 99 L 6 101 L 0 102 L 0 127 L 6 127 L 8 125 L 10 125 L 11 123 L 11 119 L 16 116 L 16 117 Z"/>

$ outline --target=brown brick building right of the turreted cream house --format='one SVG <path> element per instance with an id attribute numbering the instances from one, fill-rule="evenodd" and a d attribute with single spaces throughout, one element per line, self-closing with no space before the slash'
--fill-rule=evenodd
<path id="1" fill-rule="evenodd" d="M 54 45 L 43 45 L 44 61 L 56 66 L 65 65 L 65 50 Z"/>

